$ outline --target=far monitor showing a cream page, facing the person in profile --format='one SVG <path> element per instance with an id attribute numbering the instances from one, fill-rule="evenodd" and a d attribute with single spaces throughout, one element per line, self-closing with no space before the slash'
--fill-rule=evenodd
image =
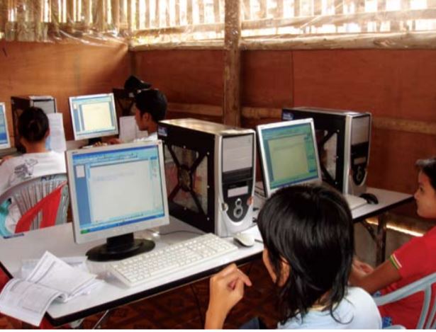
<path id="1" fill-rule="evenodd" d="M 69 97 L 74 139 L 118 134 L 113 93 Z"/>

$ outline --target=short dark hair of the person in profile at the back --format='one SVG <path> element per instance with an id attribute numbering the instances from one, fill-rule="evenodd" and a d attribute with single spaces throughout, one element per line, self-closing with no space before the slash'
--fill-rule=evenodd
<path id="1" fill-rule="evenodd" d="M 167 98 L 161 91 L 154 88 L 138 93 L 135 96 L 135 104 L 141 115 L 150 113 L 155 122 L 164 120 L 167 113 Z"/>

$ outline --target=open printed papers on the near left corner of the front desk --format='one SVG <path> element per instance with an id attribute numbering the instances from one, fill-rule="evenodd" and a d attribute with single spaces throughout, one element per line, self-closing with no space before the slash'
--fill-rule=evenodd
<path id="1" fill-rule="evenodd" d="M 89 294 L 101 282 L 96 275 L 72 268 L 46 251 L 30 275 L 13 278 L 5 285 L 0 294 L 0 312 L 39 326 L 55 299 L 67 302 Z"/>

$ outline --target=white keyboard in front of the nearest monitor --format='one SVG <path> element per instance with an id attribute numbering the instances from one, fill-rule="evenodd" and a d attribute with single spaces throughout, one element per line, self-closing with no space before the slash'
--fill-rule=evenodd
<path id="1" fill-rule="evenodd" d="M 233 251 L 237 251 L 234 244 L 215 234 L 204 234 L 111 263 L 109 270 L 125 285 L 134 287 Z"/>

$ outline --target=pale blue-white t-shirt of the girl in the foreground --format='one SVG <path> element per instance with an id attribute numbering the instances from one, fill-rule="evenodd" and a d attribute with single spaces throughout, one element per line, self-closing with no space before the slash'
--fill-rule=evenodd
<path id="1" fill-rule="evenodd" d="M 311 330 L 381 328 L 381 317 L 374 299 L 359 287 L 347 288 L 347 294 L 333 311 L 333 314 L 340 322 L 332 318 L 330 311 L 309 310 L 303 321 L 301 321 L 301 316 L 296 316 L 277 327 Z"/>

